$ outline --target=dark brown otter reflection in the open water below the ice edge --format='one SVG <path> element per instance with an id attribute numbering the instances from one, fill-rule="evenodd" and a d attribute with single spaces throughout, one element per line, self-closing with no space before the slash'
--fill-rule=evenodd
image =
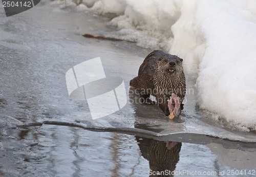
<path id="1" fill-rule="evenodd" d="M 162 142 L 136 136 L 141 155 L 150 164 L 149 176 L 173 176 L 179 161 L 181 143 Z"/>

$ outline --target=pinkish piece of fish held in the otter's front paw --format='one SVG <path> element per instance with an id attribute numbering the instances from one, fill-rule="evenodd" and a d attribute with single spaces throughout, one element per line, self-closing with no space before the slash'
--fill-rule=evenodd
<path id="1" fill-rule="evenodd" d="M 170 112 L 169 119 L 173 119 L 180 115 L 180 98 L 174 93 L 168 100 L 168 109 Z"/>

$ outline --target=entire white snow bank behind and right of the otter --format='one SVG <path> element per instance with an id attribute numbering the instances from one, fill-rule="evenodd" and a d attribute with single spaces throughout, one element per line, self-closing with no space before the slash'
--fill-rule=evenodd
<path id="1" fill-rule="evenodd" d="M 115 14 L 119 34 L 184 59 L 198 104 L 230 125 L 255 130 L 256 1 L 83 0 Z"/>

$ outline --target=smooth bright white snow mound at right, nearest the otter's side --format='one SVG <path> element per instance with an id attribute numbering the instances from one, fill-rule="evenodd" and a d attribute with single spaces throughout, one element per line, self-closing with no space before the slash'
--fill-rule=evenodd
<path id="1" fill-rule="evenodd" d="M 256 125 L 254 2 L 203 1 L 197 11 L 205 38 L 197 79 L 198 103 L 240 127 Z"/>

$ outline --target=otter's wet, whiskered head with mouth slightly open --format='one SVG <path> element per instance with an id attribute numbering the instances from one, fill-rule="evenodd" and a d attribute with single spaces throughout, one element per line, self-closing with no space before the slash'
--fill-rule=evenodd
<path id="1" fill-rule="evenodd" d="M 165 71 L 168 74 L 174 74 L 176 72 L 183 71 L 183 59 L 177 57 L 176 55 L 163 55 L 158 60 L 158 69 L 161 71 Z"/>

